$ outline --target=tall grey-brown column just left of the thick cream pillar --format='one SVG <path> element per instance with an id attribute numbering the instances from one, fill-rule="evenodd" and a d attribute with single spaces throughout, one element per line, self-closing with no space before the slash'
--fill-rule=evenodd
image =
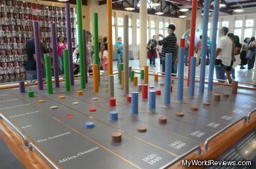
<path id="1" fill-rule="evenodd" d="M 129 94 L 129 16 L 124 15 L 124 94 Z"/>

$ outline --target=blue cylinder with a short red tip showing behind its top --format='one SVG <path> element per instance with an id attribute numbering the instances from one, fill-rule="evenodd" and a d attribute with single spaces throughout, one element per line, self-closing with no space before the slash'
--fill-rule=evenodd
<path id="1" fill-rule="evenodd" d="M 178 94 L 177 99 L 183 99 L 183 83 L 184 83 L 184 47 L 179 48 L 179 63 L 178 63 Z"/>

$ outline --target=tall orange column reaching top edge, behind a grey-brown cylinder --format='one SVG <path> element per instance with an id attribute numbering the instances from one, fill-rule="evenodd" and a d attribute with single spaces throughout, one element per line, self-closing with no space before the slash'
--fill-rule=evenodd
<path id="1" fill-rule="evenodd" d="M 108 44 L 112 42 L 112 0 L 107 0 Z M 108 75 L 113 75 L 113 48 L 108 48 Z"/>

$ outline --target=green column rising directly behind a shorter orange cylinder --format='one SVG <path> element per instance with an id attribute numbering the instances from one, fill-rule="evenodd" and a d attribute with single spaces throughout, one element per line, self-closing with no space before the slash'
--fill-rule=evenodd
<path id="1" fill-rule="evenodd" d="M 93 64 L 98 64 L 99 84 L 100 84 L 100 63 L 99 63 L 99 28 L 98 28 L 98 13 L 93 13 L 93 36 L 94 36 L 94 58 Z"/>

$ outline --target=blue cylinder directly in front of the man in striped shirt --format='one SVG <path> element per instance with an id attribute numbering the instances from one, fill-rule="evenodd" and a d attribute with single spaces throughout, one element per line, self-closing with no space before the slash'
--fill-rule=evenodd
<path id="1" fill-rule="evenodd" d="M 171 104 L 172 54 L 165 55 L 164 105 Z"/>

